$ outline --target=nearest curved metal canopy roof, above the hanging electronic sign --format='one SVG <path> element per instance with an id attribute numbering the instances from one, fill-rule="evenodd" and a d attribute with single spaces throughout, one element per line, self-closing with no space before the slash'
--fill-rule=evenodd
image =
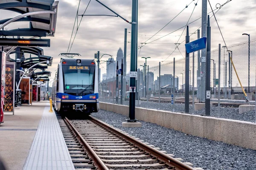
<path id="1" fill-rule="evenodd" d="M 58 1 L 54 0 L 1 0 L 0 9 L 19 13 L 17 17 L 0 20 L 0 29 L 12 22 L 28 21 L 29 28 L 0 30 L 3 36 L 54 36 Z"/>

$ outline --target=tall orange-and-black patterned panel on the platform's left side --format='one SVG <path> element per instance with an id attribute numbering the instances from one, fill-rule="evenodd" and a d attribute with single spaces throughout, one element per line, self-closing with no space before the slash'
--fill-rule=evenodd
<path id="1" fill-rule="evenodd" d="M 15 102 L 15 62 L 6 62 L 5 74 L 5 112 L 13 112 Z"/>

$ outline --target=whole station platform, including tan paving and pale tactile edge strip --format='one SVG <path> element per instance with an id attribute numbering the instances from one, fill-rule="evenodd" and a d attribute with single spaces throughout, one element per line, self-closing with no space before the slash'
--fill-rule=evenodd
<path id="1" fill-rule="evenodd" d="M 49 101 L 15 108 L 15 115 L 5 113 L 0 125 L 0 157 L 7 170 L 74 170 L 66 144 L 65 148 L 59 142 L 61 136 L 55 113 L 49 113 Z"/>

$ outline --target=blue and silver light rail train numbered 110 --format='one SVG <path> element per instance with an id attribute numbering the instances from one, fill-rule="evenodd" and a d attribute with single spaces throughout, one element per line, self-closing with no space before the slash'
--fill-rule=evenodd
<path id="1" fill-rule="evenodd" d="M 97 63 L 94 59 L 61 58 L 52 89 L 56 111 L 67 115 L 98 112 Z"/>

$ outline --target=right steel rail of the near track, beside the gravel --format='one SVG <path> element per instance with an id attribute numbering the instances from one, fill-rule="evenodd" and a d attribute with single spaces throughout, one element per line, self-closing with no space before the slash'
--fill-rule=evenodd
<path id="1" fill-rule="evenodd" d="M 140 142 L 131 136 L 126 135 L 125 133 L 120 132 L 119 130 L 114 129 L 113 127 L 110 127 L 109 125 L 106 125 L 105 123 L 99 121 L 98 119 L 90 116 L 91 121 L 97 123 L 98 125 L 101 125 L 102 127 L 110 130 L 113 133 L 116 133 L 118 137 L 122 137 L 126 141 L 130 142 L 131 144 L 135 145 L 136 147 L 139 147 L 140 149 L 144 150 L 144 152 L 149 153 L 151 156 L 156 157 L 156 159 L 163 161 L 166 165 L 169 166 L 170 169 L 173 170 L 196 170 L 193 167 L 190 167 L 186 164 L 184 164 L 181 161 L 176 160 L 175 158 L 172 158 L 171 156 L 166 155 L 165 153 L 160 152 L 159 150 L 154 149 L 153 147 L 148 146 L 147 144 L 144 144 L 143 142 Z"/>

